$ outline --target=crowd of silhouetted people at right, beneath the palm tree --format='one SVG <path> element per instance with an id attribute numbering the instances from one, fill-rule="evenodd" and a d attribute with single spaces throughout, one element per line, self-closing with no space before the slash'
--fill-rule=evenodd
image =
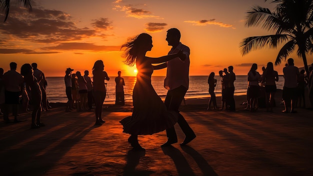
<path id="1" fill-rule="evenodd" d="M 294 66 L 293 59 L 289 58 L 285 67 L 283 68 L 284 85 L 282 90 L 281 102 L 284 104 L 282 112 L 285 113 L 296 113 L 296 107 L 308 107 L 305 103 L 306 97 L 310 100 L 311 108 L 313 108 L 313 63 L 309 66 L 309 74 L 304 75 L 305 70 Z M 235 74 L 233 67 L 220 70 L 219 76 L 221 79 L 221 107 L 218 108 L 216 105 L 216 96 L 214 88 L 217 80 L 214 78 L 215 73 L 211 72 L 208 76 L 208 92 L 210 98 L 208 101 L 207 110 L 211 109 L 226 109 L 229 111 L 235 110 L 235 102 L 233 98 L 234 93 L 234 81 Z M 251 112 L 256 109 L 265 107 L 266 111 L 273 111 L 272 107 L 276 106 L 275 92 L 276 82 L 278 81 L 278 72 L 273 69 L 273 63 L 268 62 L 266 67 L 262 67 L 262 73 L 257 71 L 257 64 L 253 63 L 250 70 L 247 73 L 247 100 L 242 102 L 246 105 L 244 109 L 248 109 Z M 305 92 L 307 87 L 307 92 Z M 211 108 L 213 104 L 213 108 Z"/>

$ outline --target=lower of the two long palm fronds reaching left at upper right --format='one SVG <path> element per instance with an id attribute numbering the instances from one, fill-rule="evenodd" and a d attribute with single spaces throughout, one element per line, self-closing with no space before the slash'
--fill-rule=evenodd
<path id="1" fill-rule="evenodd" d="M 244 38 L 240 44 L 240 52 L 242 55 L 249 53 L 251 50 L 261 49 L 261 48 L 276 48 L 278 44 L 286 42 L 288 40 L 288 35 L 265 35 L 265 36 L 250 36 Z"/>

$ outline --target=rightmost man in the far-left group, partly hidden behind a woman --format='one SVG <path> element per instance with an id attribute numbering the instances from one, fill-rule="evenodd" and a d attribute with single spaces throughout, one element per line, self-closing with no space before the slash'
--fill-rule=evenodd
<path id="1" fill-rule="evenodd" d="M 33 76 L 35 76 L 35 78 L 37 79 L 39 86 L 40 86 L 41 93 L 42 93 L 42 100 L 41 100 L 42 109 L 48 111 L 49 110 L 48 104 L 47 104 L 48 102 L 46 99 L 46 91 L 45 91 L 46 80 L 45 80 L 44 74 L 40 69 L 37 68 L 37 63 L 31 63 L 31 66 L 33 70 Z"/>

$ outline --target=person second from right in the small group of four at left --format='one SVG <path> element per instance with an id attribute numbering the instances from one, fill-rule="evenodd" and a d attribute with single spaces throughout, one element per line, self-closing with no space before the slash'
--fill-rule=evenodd
<path id="1" fill-rule="evenodd" d="M 86 110 L 87 106 L 87 82 L 81 75 L 80 71 L 76 71 L 79 93 L 79 107 L 78 111 Z"/>

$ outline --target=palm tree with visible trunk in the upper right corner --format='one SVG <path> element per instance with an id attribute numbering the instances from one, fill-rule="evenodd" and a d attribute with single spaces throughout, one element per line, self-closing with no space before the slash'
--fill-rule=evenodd
<path id="1" fill-rule="evenodd" d="M 297 46 L 296 53 L 303 59 L 308 75 L 306 54 L 313 53 L 313 0 L 271 1 L 277 4 L 273 12 L 268 8 L 253 6 L 247 11 L 245 25 L 260 26 L 275 34 L 244 38 L 239 46 L 241 54 L 245 55 L 260 48 L 276 48 L 278 44 L 284 44 L 275 60 L 275 65 L 279 65 Z"/>

